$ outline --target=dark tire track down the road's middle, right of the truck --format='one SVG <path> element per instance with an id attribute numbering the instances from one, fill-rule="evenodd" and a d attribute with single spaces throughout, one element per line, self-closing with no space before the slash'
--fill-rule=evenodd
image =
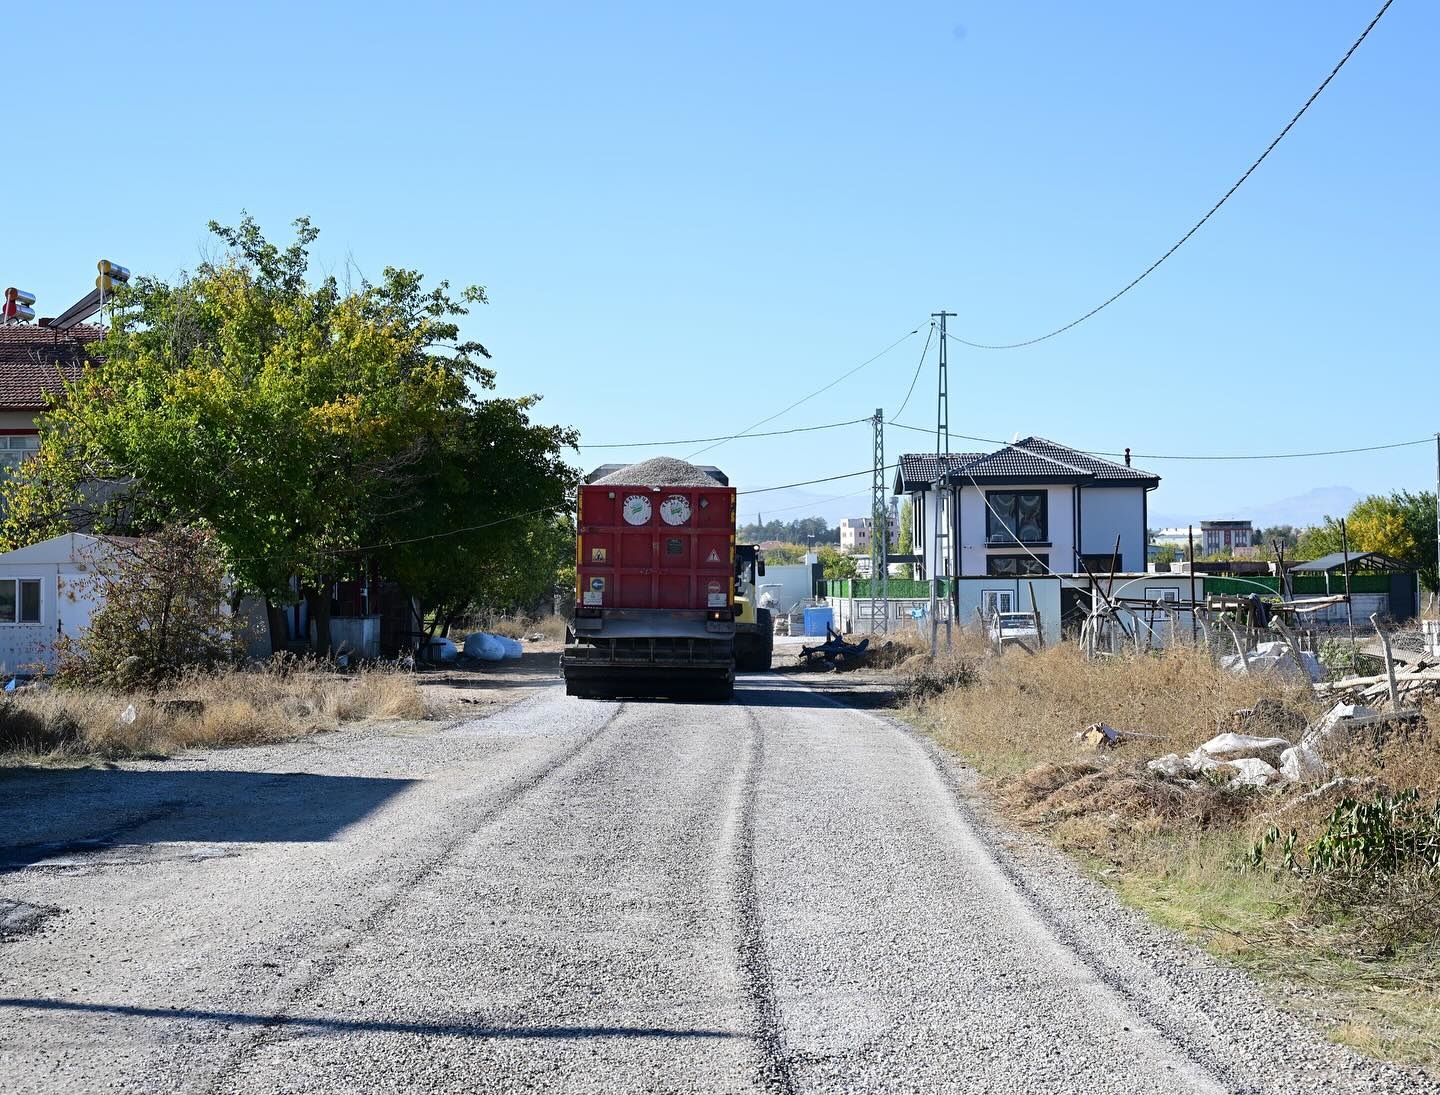
<path id="1" fill-rule="evenodd" d="M 734 846 L 732 854 L 732 900 L 734 902 L 736 944 L 740 978 L 755 1014 L 755 1043 L 760 1053 L 759 1081 L 773 1095 L 793 1095 L 795 1076 L 780 1026 L 780 1007 L 775 994 L 770 958 L 765 947 L 765 916 L 755 885 L 755 815 L 760 774 L 765 768 L 765 738 L 760 719 L 746 707 L 750 746 L 739 781 L 734 805 Z"/>

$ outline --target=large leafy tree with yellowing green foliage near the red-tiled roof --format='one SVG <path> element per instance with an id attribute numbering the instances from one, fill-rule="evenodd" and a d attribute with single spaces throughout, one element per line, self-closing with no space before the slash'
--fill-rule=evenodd
<path id="1" fill-rule="evenodd" d="M 456 320 L 484 303 L 481 288 L 452 295 L 386 268 L 379 284 L 341 292 L 334 278 L 308 280 L 317 231 L 305 219 L 285 249 L 249 218 L 210 228 L 222 258 L 115 297 L 101 363 L 46 415 L 39 457 L 6 488 L 7 542 L 204 522 L 238 586 L 269 602 L 276 637 L 298 581 L 327 653 L 333 582 L 372 558 L 400 566 L 392 546 L 416 527 L 433 548 L 441 532 L 559 507 L 552 478 L 573 481 L 559 462 L 573 435 L 541 431 L 518 448 L 484 435 L 534 401 L 477 395 L 494 373 Z M 439 475 L 436 462 L 462 448 L 469 478 Z M 501 496 L 533 504 L 501 514 Z"/>

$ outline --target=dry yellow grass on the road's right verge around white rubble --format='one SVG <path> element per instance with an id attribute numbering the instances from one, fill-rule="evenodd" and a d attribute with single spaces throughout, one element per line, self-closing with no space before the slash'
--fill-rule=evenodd
<path id="1" fill-rule="evenodd" d="M 1074 647 L 1035 657 L 965 660 L 948 687 L 922 689 L 912 716 L 982 774 L 995 803 L 1094 867 L 1129 903 L 1254 971 L 1338 1042 L 1375 1056 L 1440 1066 L 1440 886 L 1420 875 L 1346 893 L 1315 876 L 1247 869 L 1272 826 L 1300 846 L 1345 791 L 1296 804 L 1293 791 L 1204 779 L 1165 781 L 1145 762 L 1185 754 L 1260 700 L 1306 719 L 1326 706 L 1272 674 L 1234 676 L 1202 651 L 1087 663 Z M 913 674 L 943 676 L 940 667 Z M 943 684 L 943 681 L 942 681 Z M 1151 735 L 1093 752 L 1074 738 L 1093 722 Z M 1247 732 L 1295 739 L 1293 726 Z M 1364 739 L 1329 758 L 1352 794 L 1420 788 L 1440 795 L 1440 735 L 1430 722 Z"/>

